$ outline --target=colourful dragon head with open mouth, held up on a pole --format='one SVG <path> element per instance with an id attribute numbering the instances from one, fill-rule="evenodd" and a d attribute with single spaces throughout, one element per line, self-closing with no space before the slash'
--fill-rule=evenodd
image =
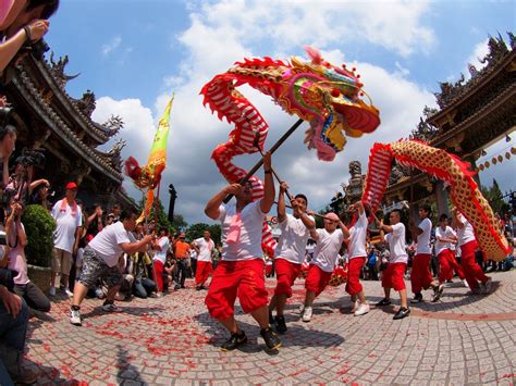
<path id="1" fill-rule="evenodd" d="M 357 138 L 378 127 L 379 111 L 363 100 L 366 94 L 355 69 L 334 66 L 314 48 L 306 51 L 311 62 L 292 58 L 278 101 L 288 113 L 310 123 L 305 142 L 317 149 L 319 159 L 332 161 L 344 149 L 346 135 Z"/>

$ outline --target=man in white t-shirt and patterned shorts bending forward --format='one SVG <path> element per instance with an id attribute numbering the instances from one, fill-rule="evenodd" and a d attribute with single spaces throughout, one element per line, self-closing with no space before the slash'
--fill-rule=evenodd
<path id="1" fill-rule="evenodd" d="M 108 225 L 89 241 L 83 254 L 83 272 L 75 282 L 72 307 L 70 310 L 70 323 L 81 325 L 81 303 L 88 289 L 99 278 L 103 278 L 108 285 L 108 295 L 102 306 L 107 312 L 118 311 L 114 306 L 114 296 L 123 281 L 119 270 L 119 259 L 122 253 L 133 254 L 144 252 L 147 245 L 152 241 L 152 235 L 146 235 L 136 241 L 132 232 L 136 228 L 138 214 L 134 210 L 124 210 L 118 223 Z"/>

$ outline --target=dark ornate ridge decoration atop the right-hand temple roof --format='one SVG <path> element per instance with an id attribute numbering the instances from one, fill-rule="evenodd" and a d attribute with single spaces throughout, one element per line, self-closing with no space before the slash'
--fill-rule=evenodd
<path id="1" fill-rule="evenodd" d="M 507 35 L 511 50 L 513 50 L 515 47 L 515 37 L 512 33 L 507 33 Z M 489 53 L 480 60 L 482 64 L 487 63 L 487 65 L 479 71 L 472 64 L 469 64 L 468 71 L 471 74 L 471 78 L 468 82 L 465 82 L 464 74 L 460 74 L 460 78 L 454 84 L 450 82 L 440 83 L 441 92 L 435 92 L 434 96 L 441 109 L 444 109 L 454 100 L 460 98 L 466 91 L 475 87 L 483 75 L 489 74 L 496 66 L 496 63 L 511 52 L 501 35 L 496 38 L 490 37 L 488 47 Z"/>

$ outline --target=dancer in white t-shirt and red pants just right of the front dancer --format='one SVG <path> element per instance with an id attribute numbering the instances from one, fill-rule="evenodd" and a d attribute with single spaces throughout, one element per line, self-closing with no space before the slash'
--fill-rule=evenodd
<path id="1" fill-rule="evenodd" d="M 274 296 L 269 302 L 269 323 L 275 324 L 280 334 L 286 333 L 285 316 L 283 310 L 286 299 L 292 297 L 292 286 L 299 275 L 302 264 L 305 261 L 306 242 L 310 237 L 309 228 L 316 226 L 312 216 L 306 215 L 308 200 L 305 195 L 298 194 L 291 200 L 292 214 L 286 213 L 285 192 L 288 189 L 286 183 L 280 184 L 278 196 L 278 221 L 280 223 L 281 236 L 274 258 L 274 271 L 277 286 Z M 277 315 L 272 317 L 272 311 Z"/>

